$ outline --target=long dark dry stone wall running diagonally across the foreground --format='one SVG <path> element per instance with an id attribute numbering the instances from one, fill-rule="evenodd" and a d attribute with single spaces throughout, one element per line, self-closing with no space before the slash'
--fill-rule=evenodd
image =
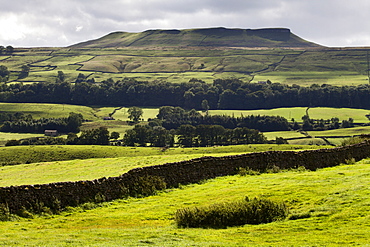
<path id="1" fill-rule="evenodd" d="M 40 207 L 51 210 L 76 206 L 85 202 L 111 201 L 135 195 L 140 178 L 156 176 L 167 187 L 197 183 L 205 179 L 236 174 L 240 167 L 265 171 L 273 166 L 280 169 L 304 166 L 306 169 L 331 167 L 354 158 L 356 161 L 370 156 L 370 142 L 307 151 L 269 151 L 226 157 L 203 157 L 188 161 L 167 163 L 132 169 L 111 178 L 92 181 L 60 182 L 43 185 L 23 185 L 0 188 L 0 205 L 11 213 L 26 209 L 38 211 Z"/>

